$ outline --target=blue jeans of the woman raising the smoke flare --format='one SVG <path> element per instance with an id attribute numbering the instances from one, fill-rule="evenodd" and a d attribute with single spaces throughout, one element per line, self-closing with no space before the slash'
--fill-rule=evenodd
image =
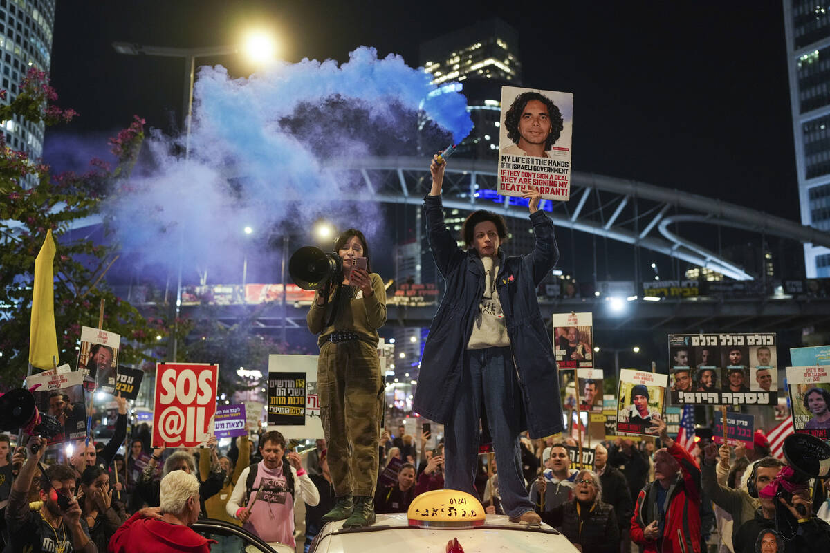
<path id="1" fill-rule="evenodd" d="M 502 507 L 509 517 L 532 511 L 519 449 L 522 395 L 510 347 L 466 350 L 458 390 L 452 420 L 444 425 L 444 487 L 477 496 L 473 482 L 483 403 L 496 450 Z"/>

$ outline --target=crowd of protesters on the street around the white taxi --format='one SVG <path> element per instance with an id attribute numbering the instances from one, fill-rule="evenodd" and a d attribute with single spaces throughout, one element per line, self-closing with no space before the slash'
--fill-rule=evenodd
<path id="1" fill-rule="evenodd" d="M 791 514 L 787 520 L 795 526 L 776 526 L 776 502 L 764 488 L 785 463 L 769 455 L 763 434 L 756 434 L 754 449 L 701 440 L 690 453 L 666 433 L 665 422 L 652 424 L 657 444 L 652 439 L 592 444 L 593 466 L 581 469 L 573 468 L 569 456 L 574 438 L 523 435 L 520 478 L 541 521 L 584 553 L 749 553 L 761 551 L 756 545 L 764 539 L 789 544 L 768 551 L 830 547 L 830 499 L 813 505 L 807 492 L 794 493 L 779 510 Z M 389 471 L 385 480 L 378 476 L 376 512 L 407 512 L 419 494 L 445 488 L 443 444 L 430 447 L 431 438 L 428 432 L 409 435 L 403 424 L 383 431 L 377 474 L 389 466 L 397 466 L 397 473 L 393 483 Z M 7 475 L 0 484 L 3 551 L 232 551 L 222 536 L 209 539 L 189 531 L 198 517 L 243 526 L 265 541 L 305 542 L 307 548 L 337 501 L 323 439 L 302 456 L 287 450 L 276 431 L 256 440 L 238 438 L 233 451 L 222 456 L 215 439 L 206 449 L 154 449 L 142 470 L 124 470 L 117 483 L 117 463 L 106 463 L 95 450 L 108 444 L 81 442 L 66 463 L 45 467 L 45 448 L 32 450 L 41 443 L 32 438 L 12 454 L 9 438 L 0 435 L 0 474 Z M 145 451 L 142 439 L 129 444 L 125 468 Z M 479 456 L 476 497 L 487 513 L 508 514 L 499 476 L 495 456 Z M 297 536 L 300 502 L 305 520 Z"/>

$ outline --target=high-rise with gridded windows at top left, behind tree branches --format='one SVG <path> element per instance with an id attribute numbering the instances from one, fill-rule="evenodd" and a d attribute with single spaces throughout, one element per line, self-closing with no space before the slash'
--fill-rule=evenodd
<path id="1" fill-rule="evenodd" d="M 0 88 L 6 90 L 3 104 L 17 97 L 20 82 L 34 67 L 48 71 L 51 65 L 52 30 L 56 0 L 0 0 Z M 9 148 L 40 158 L 45 126 L 15 116 L 2 121 Z"/>

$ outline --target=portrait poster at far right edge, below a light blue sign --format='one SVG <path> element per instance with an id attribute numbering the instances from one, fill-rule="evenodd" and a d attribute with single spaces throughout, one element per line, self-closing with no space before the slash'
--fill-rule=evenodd
<path id="1" fill-rule="evenodd" d="M 830 442 L 830 366 L 788 366 L 787 385 L 795 432 Z"/>

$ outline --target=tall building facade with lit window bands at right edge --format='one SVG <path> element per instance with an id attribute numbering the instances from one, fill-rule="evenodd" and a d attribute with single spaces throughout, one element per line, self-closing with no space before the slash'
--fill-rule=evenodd
<path id="1" fill-rule="evenodd" d="M 784 0 L 801 222 L 830 230 L 830 2 Z M 830 277 L 830 249 L 804 245 L 808 278 Z"/>

